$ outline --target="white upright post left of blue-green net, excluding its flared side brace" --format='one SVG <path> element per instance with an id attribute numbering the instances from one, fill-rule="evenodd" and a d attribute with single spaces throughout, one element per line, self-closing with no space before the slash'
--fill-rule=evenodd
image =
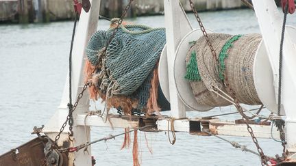
<path id="1" fill-rule="evenodd" d="M 77 33 L 75 35 L 75 40 L 73 43 L 73 59 L 72 59 L 72 85 L 73 85 L 73 100 L 75 100 L 82 88 L 84 86 L 84 60 L 87 59 L 85 54 L 85 48 L 88 44 L 90 36 L 97 31 L 97 24 L 99 20 L 99 9 L 100 9 L 99 0 L 90 1 L 91 8 L 88 13 L 82 10 L 80 15 Z M 79 146 L 82 143 L 90 141 L 90 127 L 89 126 L 77 126 L 77 115 L 89 111 L 89 95 L 86 92 L 82 97 L 77 109 L 73 113 L 73 132 L 74 132 L 74 146 Z M 87 135 L 87 138 L 86 138 Z M 91 150 L 88 147 L 88 152 L 80 150 L 75 152 L 75 161 L 74 165 L 92 165 L 91 161 Z"/>

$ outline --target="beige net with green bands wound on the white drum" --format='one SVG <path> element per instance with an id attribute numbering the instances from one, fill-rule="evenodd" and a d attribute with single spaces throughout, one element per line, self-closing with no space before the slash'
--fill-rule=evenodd
<path id="1" fill-rule="evenodd" d="M 213 57 L 204 37 L 190 47 L 186 56 L 185 79 L 190 81 L 197 102 L 211 107 L 231 105 L 212 92 L 213 87 L 218 87 L 226 94 L 231 94 L 231 88 L 240 103 L 261 105 L 253 79 L 254 56 L 262 40 L 260 34 L 232 36 L 210 33 L 208 38 L 217 59 Z M 230 88 L 225 88 L 224 83 Z"/>

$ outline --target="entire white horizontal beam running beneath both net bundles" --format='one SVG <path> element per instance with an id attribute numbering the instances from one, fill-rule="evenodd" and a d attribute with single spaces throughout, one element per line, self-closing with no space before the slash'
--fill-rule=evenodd
<path id="1" fill-rule="evenodd" d="M 107 123 L 104 122 L 105 117 L 99 117 L 97 115 L 91 115 L 86 117 L 84 121 L 85 114 L 78 115 L 77 125 L 84 126 L 99 126 L 99 127 L 114 127 L 114 128 L 136 128 L 138 127 L 137 120 L 128 120 L 127 117 L 119 117 L 118 115 L 110 115 L 110 118 Z M 182 119 L 175 120 L 174 130 L 176 132 L 189 133 L 190 125 L 189 121 L 200 121 L 201 118 L 192 118 L 192 119 Z M 159 131 L 167 131 L 168 126 L 171 130 L 171 122 L 169 118 L 164 120 L 158 120 L 156 122 Z M 208 120 L 209 129 L 212 133 L 217 135 L 230 135 L 237 137 L 250 137 L 245 124 L 235 124 L 234 122 L 223 122 L 219 119 Z M 271 137 L 271 126 L 266 125 L 254 125 L 250 124 L 251 128 L 254 130 L 254 134 L 258 138 L 272 138 Z M 201 128 L 202 129 L 202 128 Z M 277 131 L 277 128 L 273 128 L 273 138 L 280 139 L 280 133 Z"/>

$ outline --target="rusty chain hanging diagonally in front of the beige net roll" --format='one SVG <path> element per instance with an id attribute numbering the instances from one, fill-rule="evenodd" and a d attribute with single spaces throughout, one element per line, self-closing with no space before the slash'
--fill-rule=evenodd
<path id="1" fill-rule="evenodd" d="M 211 44 L 211 42 L 210 42 L 210 40 L 208 38 L 208 33 L 206 32 L 206 29 L 204 28 L 204 25 L 201 22 L 201 19 L 199 18 L 199 15 L 197 13 L 197 10 L 195 9 L 195 5 L 193 3 L 193 0 L 188 0 L 188 1 L 190 3 L 191 9 L 193 10 L 195 18 L 197 19 L 197 22 L 199 23 L 199 27 L 200 27 L 202 33 L 204 34 L 204 38 L 206 38 L 206 42 L 207 42 L 208 46 L 210 47 L 210 51 L 212 53 L 212 56 L 214 57 L 215 61 L 217 62 L 217 67 L 218 67 L 218 70 L 219 70 L 219 68 L 221 68 L 221 66 L 220 66 L 219 60 L 217 58 L 216 51 L 214 51 L 214 48 L 212 47 L 212 44 Z M 247 120 L 249 120 L 248 116 L 245 115 L 245 113 L 243 113 L 243 108 L 240 107 L 240 105 L 238 103 L 238 100 L 236 99 L 236 94 L 235 94 L 234 90 L 231 87 L 229 87 L 229 84 L 227 83 L 227 77 L 225 77 L 225 73 L 223 73 L 223 76 L 225 78 L 225 81 L 223 81 L 223 85 L 227 89 L 227 91 L 229 91 L 231 93 L 231 96 L 234 99 L 234 102 L 236 103 L 236 105 L 235 105 L 236 109 L 238 109 L 238 112 L 240 113 L 240 115 L 242 115 L 243 119 L 245 119 L 245 122 L 247 124 L 247 130 L 248 130 L 249 134 L 251 135 L 251 138 L 252 138 L 253 142 L 255 143 L 256 148 L 257 148 L 257 150 L 258 150 L 258 152 L 260 154 L 261 165 L 262 166 L 268 165 L 267 164 L 268 158 L 267 158 L 267 156 L 264 155 L 264 152 L 263 152 L 262 148 L 260 148 L 258 140 L 256 139 L 256 137 L 254 135 L 253 129 L 251 128 L 251 126 L 249 126 L 249 124 L 247 122 Z M 213 88 L 213 89 L 215 90 L 215 88 Z"/>

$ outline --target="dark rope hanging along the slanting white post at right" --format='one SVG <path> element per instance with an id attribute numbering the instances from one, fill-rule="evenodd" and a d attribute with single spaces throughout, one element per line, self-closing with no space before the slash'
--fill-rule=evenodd
<path id="1" fill-rule="evenodd" d="M 288 3 L 286 3 L 285 11 L 284 11 L 284 21 L 282 25 L 282 37 L 280 42 L 280 60 L 279 60 L 279 87 L 278 87 L 278 96 L 277 96 L 277 115 L 280 115 L 280 107 L 282 102 L 282 50 L 284 45 L 284 32 L 286 27 L 286 16 L 288 14 Z"/>

